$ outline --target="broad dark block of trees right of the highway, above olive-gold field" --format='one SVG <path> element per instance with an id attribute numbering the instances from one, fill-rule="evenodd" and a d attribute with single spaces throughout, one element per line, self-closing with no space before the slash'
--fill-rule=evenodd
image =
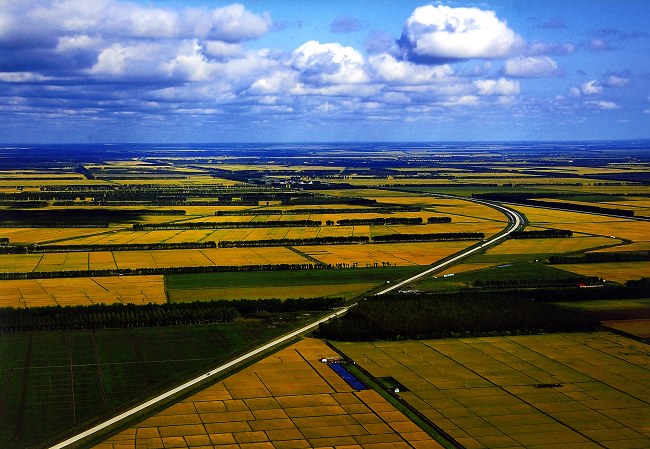
<path id="1" fill-rule="evenodd" d="M 387 294 L 359 302 L 320 325 L 321 338 L 346 341 L 534 334 L 597 329 L 597 317 L 552 302 L 647 297 L 650 278 L 624 286 Z"/>

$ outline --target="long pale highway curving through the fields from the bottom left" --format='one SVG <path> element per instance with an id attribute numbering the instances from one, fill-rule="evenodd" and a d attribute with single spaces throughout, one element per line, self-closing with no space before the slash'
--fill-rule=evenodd
<path id="1" fill-rule="evenodd" d="M 488 207 L 492 207 L 501 213 L 503 213 L 507 218 L 508 218 L 508 225 L 499 233 L 493 235 L 492 237 L 479 242 L 475 245 L 470 246 L 469 248 L 466 248 L 462 251 L 457 252 L 456 254 L 452 254 L 449 257 L 446 257 L 445 259 L 442 259 L 441 261 L 438 261 L 431 265 L 429 268 L 426 270 L 422 271 L 421 273 L 418 273 L 414 276 L 409 277 L 408 279 L 404 279 L 396 284 L 391 285 L 390 287 L 384 288 L 380 290 L 379 292 L 375 293 L 375 295 L 383 295 L 385 293 L 391 292 L 399 287 L 402 287 L 406 284 L 409 284 L 413 281 L 416 281 L 424 276 L 427 276 L 431 273 L 434 273 L 436 271 L 439 271 L 443 268 L 448 267 L 449 265 L 452 265 L 476 252 L 479 252 L 487 247 L 498 245 L 499 243 L 503 242 L 510 233 L 517 231 L 525 226 L 526 223 L 526 218 L 521 214 L 520 212 L 517 212 L 516 210 L 510 209 L 508 207 L 502 206 L 500 204 L 493 203 L 491 201 L 485 201 L 485 200 L 477 200 L 477 199 L 470 199 L 470 198 L 465 198 L 465 197 L 456 197 L 452 195 L 435 195 L 437 197 L 441 198 L 454 198 L 454 199 L 463 199 L 466 201 L 472 201 L 474 203 L 478 204 L 483 204 Z M 269 343 L 266 343 L 262 346 L 259 346 L 246 354 L 237 357 L 234 360 L 231 360 L 227 363 L 224 363 L 220 366 L 217 366 L 210 371 L 201 374 L 198 377 L 195 377 L 194 379 L 191 379 L 187 382 L 185 382 L 182 385 L 179 385 L 171 390 L 166 391 L 165 393 L 162 393 L 154 398 L 149 399 L 148 401 L 137 405 L 129 410 L 126 410 L 123 413 L 120 413 L 119 415 L 108 419 L 102 423 L 99 423 L 95 425 L 94 427 L 91 427 L 88 430 L 85 430 L 84 432 L 81 432 L 77 435 L 74 435 L 70 438 L 68 438 L 65 441 L 62 441 L 54 446 L 51 446 L 51 449 L 63 449 L 63 448 L 68 448 L 68 447 L 78 447 L 79 445 L 83 444 L 84 441 L 91 439 L 93 437 L 96 437 L 97 435 L 101 434 L 102 432 L 107 432 L 110 429 L 114 429 L 120 425 L 123 424 L 123 421 L 126 421 L 127 419 L 136 417 L 136 416 L 141 416 L 143 413 L 145 413 L 147 410 L 154 409 L 160 407 L 162 404 L 164 404 L 167 400 L 170 400 L 174 397 L 178 397 L 180 395 L 183 395 L 190 390 L 204 384 L 209 378 L 214 377 L 220 373 L 223 373 L 239 364 L 243 364 L 246 362 L 252 361 L 255 357 L 258 357 L 264 353 L 267 353 L 268 351 L 271 351 L 273 349 L 277 349 L 282 347 L 282 345 L 290 342 L 296 337 L 299 337 L 300 335 L 304 335 L 308 332 L 313 331 L 318 325 L 325 321 L 329 321 L 333 318 L 339 317 L 343 314 L 345 314 L 348 310 L 350 310 L 352 307 L 356 306 L 357 303 L 350 304 L 348 306 L 342 307 L 335 312 L 332 312 L 322 318 L 319 318 L 318 320 L 301 327 L 300 329 L 294 330 L 288 334 L 285 334 L 281 337 L 276 338 L 275 340 L 270 341 Z"/>

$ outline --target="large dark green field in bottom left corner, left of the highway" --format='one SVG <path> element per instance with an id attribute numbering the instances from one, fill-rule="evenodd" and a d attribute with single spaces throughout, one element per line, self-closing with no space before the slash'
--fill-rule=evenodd
<path id="1" fill-rule="evenodd" d="M 0 447 L 114 415 L 281 332 L 235 323 L 0 334 Z"/>

